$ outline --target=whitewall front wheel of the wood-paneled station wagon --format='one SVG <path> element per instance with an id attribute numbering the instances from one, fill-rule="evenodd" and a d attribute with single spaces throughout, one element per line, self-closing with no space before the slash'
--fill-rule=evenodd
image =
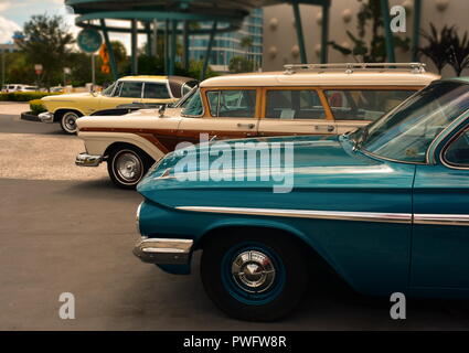
<path id="1" fill-rule="evenodd" d="M 122 189 L 135 189 L 154 161 L 132 146 L 115 148 L 107 160 L 113 182 Z"/>

